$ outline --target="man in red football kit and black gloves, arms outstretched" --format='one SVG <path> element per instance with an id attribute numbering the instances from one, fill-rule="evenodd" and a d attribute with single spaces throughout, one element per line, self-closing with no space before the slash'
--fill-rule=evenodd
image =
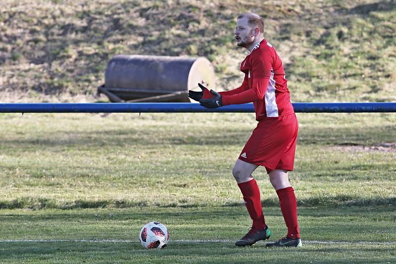
<path id="1" fill-rule="evenodd" d="M 264 39 L 263 31 L 264 22 L 259 15 L 240 14 L 235 38 L 239 47 L 250 52 L 241 63 L 241 71 L 245 73 L 242 85 L 217 93 L 213 90 L 209 92 L 198 84 L 202 92 L 189 91 L 189 97 L 207 108 L 251 102 L 254 105 L 257 127 L 232 170 L 253 223 L 235 245 L 252 245 L 271 236 L 261 208 L 260 191 L 251 175 L 258 166 L 264 166 L 279 197 L 288 229 L 286 237 L 266 246 L 301 247 L 296 196 L 288 175 L 294 165 L 298 122 L 290 102 L 282 61 L 274 47 Z"/>

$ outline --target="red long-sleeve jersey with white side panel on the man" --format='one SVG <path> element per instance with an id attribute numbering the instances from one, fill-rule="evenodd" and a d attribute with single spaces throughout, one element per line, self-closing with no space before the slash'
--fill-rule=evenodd
<path id="1" fill-rule="evenodd" d="M 257 121 L 294 113 L 282 61 L 266 40 L 246 56 L 241 71 L 245 73 L 242 85 L 220 92 L 223 106 L 253 102 Z"/>

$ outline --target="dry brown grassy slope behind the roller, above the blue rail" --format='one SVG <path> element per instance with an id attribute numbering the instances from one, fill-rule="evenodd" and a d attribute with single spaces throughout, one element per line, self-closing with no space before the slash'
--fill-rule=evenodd
<path id="1" fill-rule="evenodd" d="M 265 18 L 297 101 L 396 100 L 394 1 L 3 0 L 1 101 L 96 101 L 116 53 L 208 57 L 218 90 L 241 81 L 240 12 Z M 16 95 L 14 95 L 16 94 Z M 69 99 L 67 99 L 69 98 Z"/>

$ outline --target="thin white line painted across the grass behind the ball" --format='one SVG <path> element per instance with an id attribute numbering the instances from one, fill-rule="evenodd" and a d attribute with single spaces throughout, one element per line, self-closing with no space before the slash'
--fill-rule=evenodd
<path id="1" fill-rule="evenodd" d="M 122 239 L 5 239 L 0 240 L 0 243 L 19 243 L 19 242 L 35 242 L 35 243 L 49 243 L 49 242 L 67 242 L 67 243 L 139 243 L 137 240 L 122 240 Z M 212 239 L 212 240 L 170 240 L 171 243 L 193 244 L 193 243 L 234 243 L 229 239 Z M 392 242 L 373 242 L 373 241 L 317 241 L 317 240 L 303 240 L 304 244 L 333 244 L 333 245 L 396 245 L 396 241 Z"/>

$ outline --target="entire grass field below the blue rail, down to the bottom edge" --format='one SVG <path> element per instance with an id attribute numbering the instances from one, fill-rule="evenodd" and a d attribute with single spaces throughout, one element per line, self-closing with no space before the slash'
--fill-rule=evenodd
<path id="1" fill-rule="evenodd" d="M 0 262 L 394 263 L 396 115 L 298 118 L 305 243 L 279 250 L 234 246 L 250 219 L 231 168 L 253 114 L 2 114 Z M 277 240 L 276 194 L 255 177 Z M 138 242 L 150 220 L 170 230 L 162 251 Z"/>

